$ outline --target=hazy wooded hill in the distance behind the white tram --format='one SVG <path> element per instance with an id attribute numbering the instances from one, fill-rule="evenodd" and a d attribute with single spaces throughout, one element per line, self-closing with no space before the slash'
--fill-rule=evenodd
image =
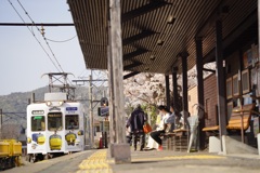
<path id="1" fill-rule="evenodd" d="M 103 97 L 103 91 L 107 90 L 107 86 L 94 86 L 93 99 L 100 101 Z M 49 86 L 40 88 L 31 92 L 15 92 L 9 95 L 0 95 L 0 109 L 2 109 L 2 131 L 0 131 L 0 138 L 17 138 L 22 130 L 21 127 L 26 128 L 26 107 L 31 97 L 31 93 L 35 93 L 36 101 L 43 101 L 44 93 L 49 92 Z M 75 99 L 80 101 L 83 104 L 87 116 L 89 115 L 89 88 L 76 86 Z M 94 119 L 100 121 L 103 118 L 98 117 L 98 105 L 94 103 L 93 114 Z"/>

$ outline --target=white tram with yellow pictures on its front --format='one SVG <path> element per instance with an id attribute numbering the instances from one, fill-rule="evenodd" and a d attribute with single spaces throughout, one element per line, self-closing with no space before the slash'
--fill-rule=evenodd
<path id="1" fill-rule="evenodd" d="M 27 106 L 27 154 L 31 162 L 84 149 L 82 105 L 66 93 L 46 93 Z"/>

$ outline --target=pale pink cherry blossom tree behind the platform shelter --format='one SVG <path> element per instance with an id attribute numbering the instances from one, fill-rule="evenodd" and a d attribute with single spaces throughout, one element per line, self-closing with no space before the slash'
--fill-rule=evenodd
<path id="1" fill-rule="evenodd" d="M 204 68 L 216 69 L 216 63 L 210 63 L 204 65 Z M 211 72 L 204 71 L 204 78 L 209 76 Z M 187 84 L 188 88 L 197 84 L 197 71 L 196 66 L 194 66 L 191 70 L 187 71 Z M 161 74 L 151 74 L 151 72 L 142 72 L 134 77 L 128 78 L 123 80 L 125 86 L 125 97 L 126 97 L 126 107 L 134 107 L 136 104 L 143 105 L 146 111 L 150 114 L 155 111 L 154 107 L 157 105 L 166 104 L 166 84 L 165 84 L 165 75 Z M 178 75 L 178 109 L 182 109 L 182 75 Z M 172 93 L 172 79 L 170 76 L 170 95 L 171 103 L 173 101 Z"/>

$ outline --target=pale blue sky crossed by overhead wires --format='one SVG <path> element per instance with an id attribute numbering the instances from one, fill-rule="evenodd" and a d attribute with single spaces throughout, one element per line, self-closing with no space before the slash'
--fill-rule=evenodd
<path id="1" fill-rule="evenodd" d="M 0 23 L 31 23 L 30 18 L 35 23 L 73 23 L 67 0 L 0 0 Z M 47 72 L 72 72 L 70 81 L 88 76 L 74 26 L 44 27 L 54 56 L 37 27 L 0 26 L 0 95 L 46 86 L 49 78 L 41 76 Z"/>

